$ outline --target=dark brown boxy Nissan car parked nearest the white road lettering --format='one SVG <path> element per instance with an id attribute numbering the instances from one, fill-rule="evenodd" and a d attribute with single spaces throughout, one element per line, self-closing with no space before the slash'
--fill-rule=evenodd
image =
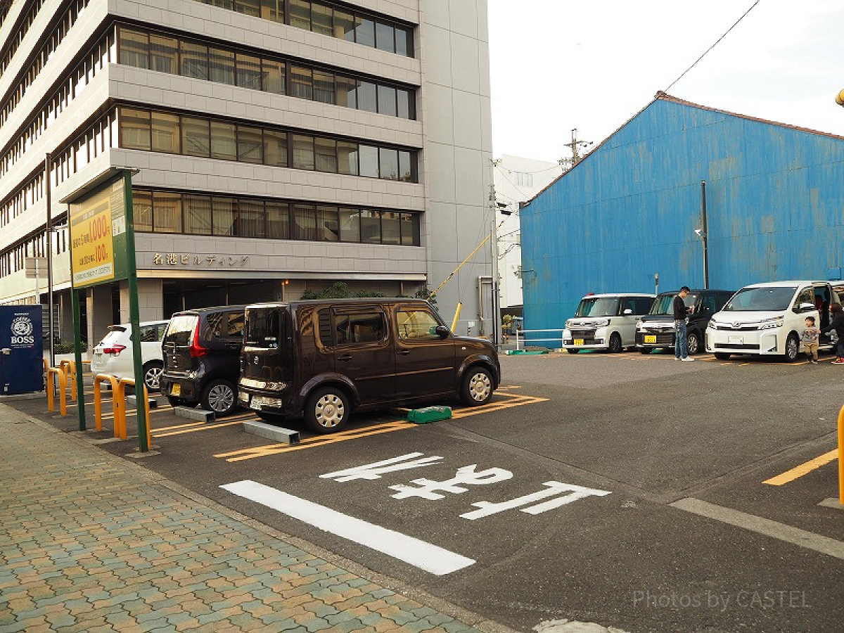
<path id="1" fill-rule="evenodd" d="M 238 398 L 268 421 L 332 433 L 353 409 L 460 396 L 488 403 L 495 348 L 458 337 L 425 300 L 301 300 L 246 307 Z"/>

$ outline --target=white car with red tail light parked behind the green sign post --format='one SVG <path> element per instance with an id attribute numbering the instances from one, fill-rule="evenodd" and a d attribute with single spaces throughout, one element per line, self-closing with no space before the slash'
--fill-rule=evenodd
<path id="1" fill-rule="evenodd" d="M 161 356 L 161 339 L 169 321 L 148 321 L 140 323 L 141 363 L 143 381 L 150 392 L 160 387 L 164 360 Z M 91 373 L 111 374 L 117 378 L 133 378 L 135 366 L 132 354 L 131 323 L 110 325 L 106 336 L 94 348 L 91 358 Z"/>

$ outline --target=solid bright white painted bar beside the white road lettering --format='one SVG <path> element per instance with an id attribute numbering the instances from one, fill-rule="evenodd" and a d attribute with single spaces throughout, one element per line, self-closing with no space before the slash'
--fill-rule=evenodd
<path id="1" fill-rule="evenodd" d="M 436 576 L 474 564 L 474 560 L 425 543 L 418 538 L 389 530 L 386 527 L 320 506 L 313 501 L 300 499 L 264 484 L 245 479 L 220 486 L 223 490 L 277 510 L 288 517 L 299 519 L 325 532 L 337 534 L 350 541 L 365 545 L 392 558 L 403 560 Z"/>

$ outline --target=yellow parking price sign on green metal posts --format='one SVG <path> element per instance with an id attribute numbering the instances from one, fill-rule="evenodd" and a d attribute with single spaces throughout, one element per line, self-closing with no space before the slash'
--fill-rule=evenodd
<path id="1" fill-rule="evenodd" d="M 138 310 L 138 273 L 135 266 L 135 230 L 132 204 L 132 171 L 116 170 L 102 184 L 84 188 L 66 199 L 70 205 L 70 270 L 73 289 L 73 331 L 76 349 L 76 385 L 79 430 L 85 430 L 84 387 L 80 338 L 79 295 L 82 289 L 127 279 L 129 321 L 132 323 L 132 353 L 135 373 L 135 399 L 138 402 L 138 442 L 142 452 L 147 444 L 147 399 L 143 397 Z"/>

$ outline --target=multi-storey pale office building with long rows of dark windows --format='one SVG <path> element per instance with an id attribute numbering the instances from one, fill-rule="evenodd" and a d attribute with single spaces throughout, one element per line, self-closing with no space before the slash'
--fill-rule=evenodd
<path id="1" fill-rule="evenodd" d="M 49 242 L 72 336 L 62 200 L 116 168 L 142 320 L 435 289 L 490 230 L 486 23 L 485 0 L 0 0 L 0 303 L 47 304 L 25 269 Z M 490 268 L 482 249 L 437 295 L 458 333 Z M 83 308 L 96 342 L 127 283 Z"/>

